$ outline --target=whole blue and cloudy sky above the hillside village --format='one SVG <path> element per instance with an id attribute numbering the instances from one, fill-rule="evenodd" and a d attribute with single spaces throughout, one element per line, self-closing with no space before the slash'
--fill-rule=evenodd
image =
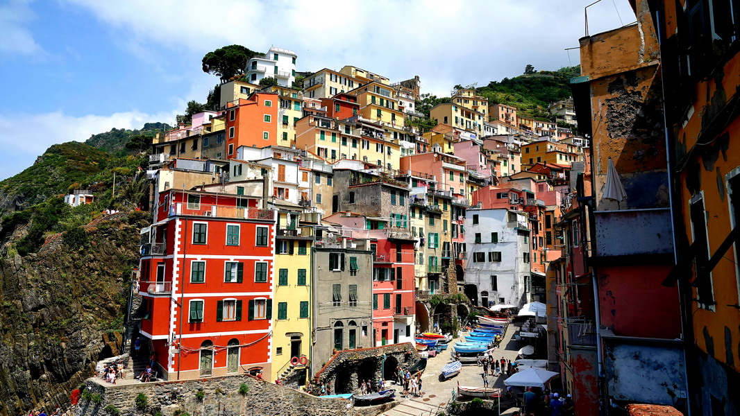
<path id="1" fill-rule="evenodd" d="M 299 71 L 354 65 L 422 92 L 579 64 L 593 0 L 0 0 L 0 179 L 54 143 L 174 123 L 218 77 L 229 44 L 297 53 Z M 589 31 L 635 20 L 627 0 L 588 8 Z"/>

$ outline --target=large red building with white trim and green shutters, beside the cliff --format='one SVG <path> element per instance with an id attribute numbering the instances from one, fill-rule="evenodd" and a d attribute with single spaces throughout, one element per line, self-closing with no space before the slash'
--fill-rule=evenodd
<path id="1" fill-rule="evenodd" d="M 275 213 L 257 205 L 235 195 L 160 194 L 139 267 L 141 335 L 160 378 L 269 370 Z"/>

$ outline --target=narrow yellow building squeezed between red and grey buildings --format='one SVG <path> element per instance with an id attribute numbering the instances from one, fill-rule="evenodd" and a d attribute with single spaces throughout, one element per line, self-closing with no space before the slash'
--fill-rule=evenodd
<path id="1" fill-rule="evenodd" d="M 270 381 L 295 371 L 305 383 L 304 364 L 311 360 L 313 228 L 301 225 L 299 216 L 300 211 L 278 211 Z"/>

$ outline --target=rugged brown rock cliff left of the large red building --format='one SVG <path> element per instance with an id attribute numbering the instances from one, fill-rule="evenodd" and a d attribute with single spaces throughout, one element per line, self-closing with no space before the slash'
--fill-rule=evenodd
<path id="1" fill-rule="evenodd" d="M 78 249 L 55 239 L 21 257 L 13 242 L 23 229 L 0 247 L 1 416 L 67 403 L 95 361 L 118 353 L 147 222 L 139 212 L 101 222 Z"/>

